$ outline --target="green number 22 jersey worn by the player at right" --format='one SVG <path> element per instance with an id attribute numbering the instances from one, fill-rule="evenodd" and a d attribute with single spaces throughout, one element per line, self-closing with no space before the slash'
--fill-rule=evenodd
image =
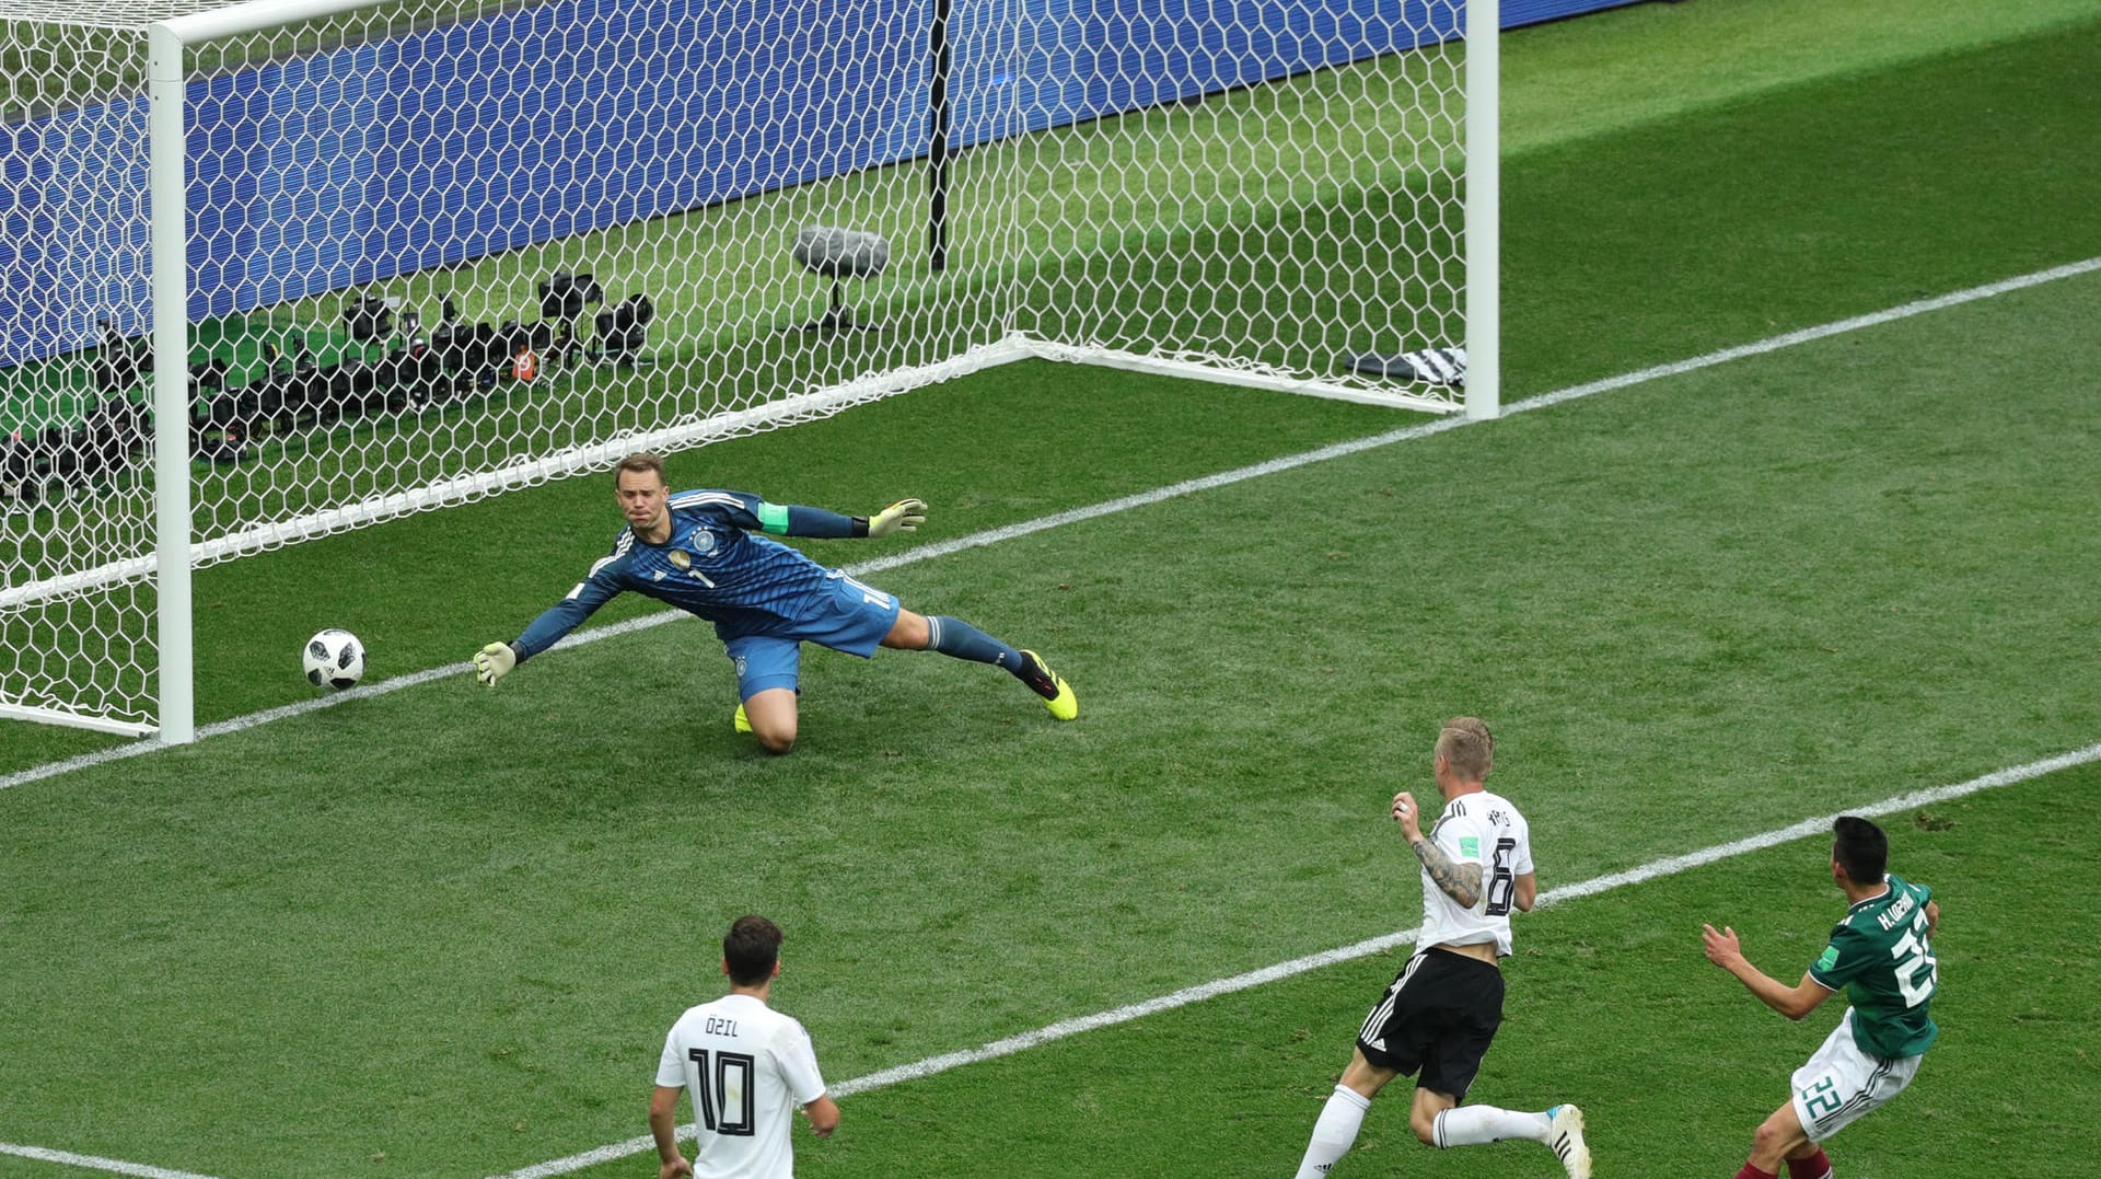
<path id="1" fill-rule="evenodd" d="M 1933 889 L 1882 876 L 1889 891 L 1847 910 L 1832 927 L 1830 946 L 1809 967 L 1809 977 L 1845 990 L 1853 1002 L 1853 1042 L 1885 1059 L 1916 1057 L 1939 1028 L 1927 1007 L 1941 981 L 1939 958 L 1927 935 L 1927 899 Z"/>

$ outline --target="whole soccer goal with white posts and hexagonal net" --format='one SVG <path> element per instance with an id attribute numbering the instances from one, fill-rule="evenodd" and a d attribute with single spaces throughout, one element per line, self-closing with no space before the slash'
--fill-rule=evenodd
<path id="1" fill-rule="evenodd" d="M 0 0 L 0 717 L 191 740 L 193 567 L 1006 361 L 1492 416 L 1496 13 Z"/>

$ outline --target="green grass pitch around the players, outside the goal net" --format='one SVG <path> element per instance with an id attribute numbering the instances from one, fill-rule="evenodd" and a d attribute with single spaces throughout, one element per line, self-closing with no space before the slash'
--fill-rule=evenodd
<path id="1" fill-rule="evenodd" d="M 2093 4 L 1704 0 L 1504 48 L 1506 401 L 2101 256 Z M 475 1179 L 632 1139 L 748 910 L 788 931 L 775 998 L 834 1084 L 1406 929 L 1382 805 L 1429 788 L 1456 712 L 1498 731 L 1542 887 L 2095 746 L 2097 319 L 2086 273 L 870 576 L 1042 649 L 1074 725 L 985 668 L 813 654 L 803 744 L 767 759 L 681 620 L 500 691 L 460 675 L 4 788 L 0 1143 Z M 927 544 L 1412 420 L 1015 366 L 672 471 L 920 494 Z M 372 679 L 464 660 L 616 525 L 582 479 L 206 570 L 204 721 L 305 698 L 321 624 L 372 643 Z M 8 725 L 0 778 L 109 744 Z M 1885 820 L 1946 908 L 1943 1040 L 1832 1141 L 1838 1175 L 2101 1152 L 2097 813 L 2082 765 Z M 1580 1101 L 1601 1175 L 1731 1175 L 1836 1005 L 1765 1011 L 1700 923 L 1792 977 L 1840 910 L 1801 839 L 1521 918 L 1473 1097 Z M 855 1093 L 798 1166 L 1288 1175 L 1393 969 Z M 1336 1177 L 1416 1173 L 1557 1162 L 1433 1156 L 1385 1097 Z"/>

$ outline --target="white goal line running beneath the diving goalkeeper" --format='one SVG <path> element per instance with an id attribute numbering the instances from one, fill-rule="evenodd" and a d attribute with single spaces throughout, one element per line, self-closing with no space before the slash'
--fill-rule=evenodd
<path id="1" fill-rule="evenodd" d="M 1771 351 L 1790 349 L 1794 345 L 1807 345 L 1811 340 L 1824 340 L 1824 338 L 1838 336 L 1838 334 L 1845 334 L 1845 332 L 1859 332 L 1864 328 L 1878 328 L 1882 324 L 1893 324 L 1897 319 L 1908 319 L 1912 315 L 1925 315 L 1927 311 L 1941 311 L 1941 309 L 1948 309 L 1948 307 L 1958 307 L 1962 303 L 1975 303 L 1979 298 L 1992 298 L 1996 294 L 2006 294 L 2006 292 L 2013 292 L 2013 290 L 2025 290 L 2030 286 L 2042 286 L 2046 282 L 2057 282 L 2057 280 L 2063 280 L 2063 277 L 2074 277 L 2074 275 L 2093 273 L 2093 271 L 2101 271 L 2101 258 L 2086 258 L 2082 263 L 2065 263 L 2061 267 L 2051 267 L 2046 271 L 2034 271 L 2034 273 L 2025 273 L 2025 275 L 2017 275 L 2017 277 L 1992 282 L 1992 284 L 1985 284 L 1985 286 L 1973 286 L 1969 290 L 1956 290 L 1952 294 L 1939 294 L 1939 296 L 1933 296 L 1933 298 L 1920 298 L 1916 303 L 1906 303 L 1901 307 L 1891 307 L 1887 311 L 1876 311 L 1872 315 L 1855 315 L 1851 319 L 1838 319 L 1838 322 L 1832 322 L 1832 324 L 1824 324 L 1819 328 L 1803 328 L 1801 332 L 1788 332 L 1784 336 L 1773 336 L 1773 338 L 1767 338 L 1767 340 L 1759 340 L 1759 343 L 1750 343 L 1750 345 L 1740 345 L 1740 347 L 1733 347 L 1733 349 L 1721 349 L 1721 351 L 1712 351 L 1712 353 L 1698 355 L 1698 357 L 1691 357 L 1691 359 L 1681 359 L 1681 361 L 1672 361 L 1672 364 L 1664 364 L 1664 366 L 1656 366 L 1656 368 L 1643 368 L 1639 372 L 1626 372 L 1626 374 L 1620 374 L 1620 376 L 1609 376 L 1605 380 L 1593 380 L 1588 385 L 1572 385 L 1567 389 L 1557 389 L 1553 393 L 1540 393 L 1538 397 L 1525 397 L 1523 401 L 1513 401 L 1513 404 L 1504 406 L 1502 412 L 1504 412 L 1504 416 L 1509 416 L 1509 414 L 1523 414 L 1527 410 L 1544 410 L 1548 406 L 1559 406 L 1563 401 L 1576 401 L 1578 397 L 1590 397 L 1593 393 L 1609 393 L 1614 389 L 1628 389 L 1628 387 L 1635 387 L 1635 385 L 1645 385 L 1649 380 L 1662 380 L 1666 376 L 1681 376 L 1681 374 L 1687 374 L 1687 372 L 1698 372 L 1702 368 L 1712 368 L 1717 364 L 1729 364 L 1733 359 L 1744 359 L 1744 357 L 1752 357 L 1752 355 L 1765 355 L 1765 353 L 1771 353 Z M 1496 420 L 1496 418 L 1485 418 L 1485 420 Z M 1189 494 L 1195 494 L 1195 492 L 1208 492 L 1212 488 L 1225 488 L 1229 483 L 1244 483 L 1248 479 L 1261 479 L 1263 475 L 1275 475 L 1280 471 L 1290 471 L 1294 467 L 1307 467 L 1311 462 L 1326 462 L 1330 458 L 1343 458 L 1343 456 L 1349 456 L 1349 454 L 1359 454 L 1359 452 L 1366 452 L 1366 450 L 1376 450 L 1380 446 L 1393 446 L 1393 443 L 1399 443 L 1399 441 L 1429 437 L 1429 435 L 1452 431 L 1452 429 L 1458 429 L 1458 427 L 1464 427 L 1464 425 L 1473 425 L 1473 418 L 1466 418 L 1462 414 L 1454 414 L 1450 418 L 1437 418 L 1433 422 L 1403 427 L 1403 429 L 1397 429 L 1397 431 L 1387 431 L 1387 433 L 1378 433 L 1378 435 L 1370 435 L 1370 437 L 1359 437 L 1359 439 L 1351 439 L 1351 441 L 1338 441 L 1334 446 L 1324 446 L 1324 448 L 1317 448 L 1317 450 L 1307 450 L 1307 452 L 1290 454 L 1290 456 L 1284 456 L 1284 458 L 1271 458 L 1267 462 L 1256 462 L 1252 467 L 1240 467 L 1240 469 L 1233 469 L 1233 471 L 1221 471 L 1216 475 L 1204 475 L 1202 479 L 1185 479 L 1185 481 L 1172 483 L 1168 488 L 1156 488 L 1151 492 L 1139 492 L 1135 496 L 1124 496 L 1124 498 L 1118 498 L 1118 500 L 1107 500 L 1107 502 L 1090 504 L 1090 506 L 1084 506 L 1084 509 L 1061 511 L 1061 513 L 1038 517 L 1038 519 L 1032 519 L 1032 521 L 1011 523 L 1006 528 L 992 528 L 992 530 L 985 530 L 985 532 L 975 532 L 971 536 L 960 536 L 956 540 L 943 540 L 939 544 L 922 544 L 918 549 L 910 549 L 910 551 L 897 553 L 893 557 L 876 557 L 872 561 L 861 561 L 861 563 L 855 563 L 855 565 L 847 565 L 847 572 L 855 574 L 855 576 L 859 576 L 859 574 L 880 574 L 882 570 L 895 570 L 899 565 L 910 565 L 914 561 L 929 561 L 933 557 L 948 557 L 952 553 L 962 553 L 966 549 L 983 549 L 987 544 L 1000 544 L 1004 540 L 1015 540 L 1019 536 L 1029 536 L 1034 532 L 1044 532 L 1044 530 L 1050 530 L 1050 528 L 1063 528 L 1067 523 L 1080 523 L 1080 521 L 1086 521 L 1086 519 L 1116 515 L 1116 513 L 1122 513 L 1122 511 L 1141 509 L 1141 506 L 1147 506 L 1147 504 L 1158 504 L 1158 502 L 1170 500 L 1174 496 L 1189 496 Z M 613 637 L 620 637 L 620 635 L 632 635 L 635 630 L 647 630 L 651 626 L 662 626 L 666 622 L 677 622 L 681 618 L 687 618 L 687 614 L 679 612 L 679 609 L 664 609 L 664 612 L 658 612 L 658 614 L 647 614 L 643 618 L 632 618 L 628 622 L 618 622 L 613 626 L 595 626 L 590 630 L 580 630 L 576 635 L 569 635 L 567 639 L 563 639 L 557 645 L 561 645 L 561 647 L 576 647 L 576 645 L 584 645 L 584 643 L 597 643 L 599 639 L 613 639 Z M 225 733 L 237 733 L 242 729 L 252 729 L 252 727 L 269 723 L 269 721 L 282 721 L 286 717 L 298 717 L 298 715 L 305 715 L 305 712 L 313 712 L 315 708 L 330 708 L 330 706 L 336 706 L 336 704 L 347 704 L 351 700 L 363 700 L 363 698 L 370 698 L 370 696 L 382 696 L 387 691 L 399 691 L 403 687 L 416 687 L 418 683 L 431 683 L 435 679 L 443 679 L 443 677 L 450 677 L 450 675 L 466 675 L 466 670 L 469 670 L 469 664 L 450 664 L 450 666 L 441 666 L 441 668 L 422 670 L 422 673 L 416 673 L 416 675 L 403 675 L 403 677 L 397 677 L 397 679 L 389 679 L 389 681 L 380 681 L 380 683 L 355 687 L 355 689 L 342 691 L 338 696 L 324 696 L 319 700 L 307 700 L 307 702 L 300 702 L 300 704 L 286 704 L 282 708 L 265 708 L 263 712 L 250 712 L 246 717 L 235 717 L 231 721 L 219 721 L 216 725 L 204 725 L 202 729 L 197 729 L 197 740 L 216 738 L 216 736 L 225 736 Z M 19 769 L 19 771 L 8 773 L 8 775 L 0 775 L 0 790 L 6 790 L 11 786 L 23 786 L 23 784 L 38 782 L 38 780 L 44 780 L 44 778 L 57 778 L 61 773 L 71 773 L 76 769 L 86 769 L 90 765 L 105 765 L 109 761 L 122 761 L 122 759 L 128 759 L 128 757 L 141 757 L 141 754 L 147 754 L 147 752 L 155 752 L 160 748 L 166 748 L 166 746 L 162 746 L 158 740 L 147 738 L 147 740 L 139 740 L 139 742 L 132 742 L 132 744 L 124 744 L 124 746 L 113 746 L 113 748 L 105 748 L 105 750 L 97 750 L 97 752 L 88 752 L 88 754 L 80 754 L 80 757 L 69 757 L 69 759 L 63 759 L 63 761 L 50 761 L 50 763 L 36 765 L 36 767 L 29 767 L 29 769 Z"/>

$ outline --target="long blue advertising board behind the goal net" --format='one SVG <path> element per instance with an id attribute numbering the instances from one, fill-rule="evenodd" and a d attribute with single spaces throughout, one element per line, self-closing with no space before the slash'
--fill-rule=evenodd
<path id="1" fill-rule="evenodd" d="M 1027 2 L 1017 23 L 954 0 L 956 147 L 1418 48 L 1464 13 Z M 1504 25 L 1616 2 L 1511 0 Z M 931 21 L 931 0 L 559 0 L 193 82 L 189 315 L 924 156 Z M 0 128 L 0 366 L 101 317 L 147 330 L 143 141 L 143 99 Z"/>

